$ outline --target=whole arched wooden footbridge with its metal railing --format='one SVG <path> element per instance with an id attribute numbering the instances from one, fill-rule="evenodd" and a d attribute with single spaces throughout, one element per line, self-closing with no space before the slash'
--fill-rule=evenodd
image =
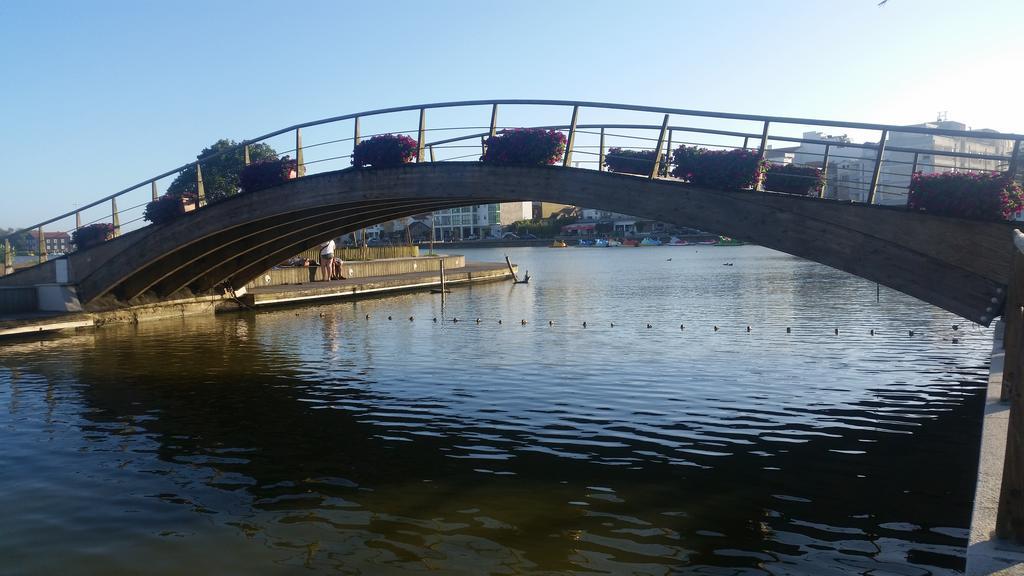
<path id="1" fill-rule="evenodd" d="M 494 134 L 500 128 L 497 121 L 499 105 L 546 107 L 545 110 L 550 107 L 570 108 L 569 124 L 544 125 L 566 131 L 568 145 L 564 162 L 560 166 L 543 167 L 485 166 L 478 162 L 479 149 L 461 157 L 435 158 L 435 152 L 443 154 L 446 146 L 465 149 L 469 147 L 461 145 Z M 490 112 L 489 127 L 484 131 L 474 132 L 465 127 L 432 128 L 460 130 L 460 133 L 432 141 L 428 138 L 431 132 L 426 124 L 428 110 L 451 113 L 453 110 L 479 110 L 480 107 L 486 107 L 484 110 L 489 109 Z M 354 145 L 360 138 L 360 119 L 414 111 L 419 112 L 419 128 L 412 130 L 419 136 L 416 164 L 392 169 L 346 168 L 311 173 L 314 170 L 309 168 L 326 167 L 330 161 L 347 159 L 348 156 L 308 159 L 310 150 L 322 143 L 303 147 L 302 129 L 351 121 L 354 128 L 352 137 L 329 139 L 323 146 L 338 142 Z M 584 124 L 579 122 L 581 111 L 653 113 L 662 117 L 662 122 Z M 670 122 L 673 116 L 696 118 L 701 122 L 755 122 L 761 129 L 742 132 L 677 125 Z M 792 131 L 795 126 L 841 127 L 861 132 L 876 130 L 881 132 L 881 138 L 878 143 L 858 145 L 848 140 L 840 143 L 833 139 L 770 134 L 772 127 L 781 131 L 788 127 Z M 645 130 L 650 137 L 636 135 Z M 185 288 L 193 292 L 225 285 L 239 288 L 268 268 L 325 239 L 371 224 L 443 208 L 529 200 L 599 208 L 731 236 L 849 272 L 983 325 L 988 325 L 993 317 L 1000 314 L 1009 283 L 1014 253 L 1012 224 L 935 216 L 911 212 L 902 206 L 881 206 L 876 204 L 876 192 L 885 186 L 882 177 L 885 174 L 884 162 L 906 164 L 897 159 L 886 160 L 887 153 L 912 153 L 912 166 L 909 166 L 907 174 L 921 166 L 922 154 L 926 152 L 956 161 L 1001 161 L 1015 171 L 1020 141 L 1024 139 L 1021 135 L 602 102 L 480 100 L 403 107 L 329 118 L 246 140 L 240 148 L 245 148 L 245 157 L 248 158 L 249 146 L 271 141 L 293 131 L 295 148 L 286 152 L 294 153 L 299 165 L 310 172 L 309 175 L 272 189 L 240 194 L 204 206 L 176 221 L 140 228 L 100 246 L 73 252 L 67 257 L 66 264 L 59 264 L 60 268 L 57 262 L 51 261 L 0 278 L 0 287 L 58 281 L 74 286 L 83 304 L 106 295 L 131 301 L 144 294 L 168 297 Z M 866 195 L 868 202 L 851 203 L 760 191 L 701 189 L 680 180 L 656 177 L 659 160 L 655 161 L 650 177 L 608 173 L 602 171 L 601 162 L 607 149 L 605 136 L 616 131 L 632 134 L 624 137 L 656 142 L 646 148 L 655 151 L 658 158 L 671 149 L 674 136 L 679 134 L 712 138 L 715 141 L 707 143 L 713 147 L 736 146 L 742 138 L 742 147 L 748 148 L 753 140 L 757 146 L 751 148 L 758 150 L 762 157 L 769 151 L 769 141 L 819 147 L 822 153 L 820 164 L 826 169 L 829 154 L 866 150 L 867 156 L 874 156 L 873 174 Z M 987 137 L 1011 142 L 1013 153 L 992 156 L 887 148 L 887 135 L 893 132 Z M 599 146 L 587 147 L 583 143 L 581 140 L 588 134 L 599 134 Z M 734 140 L 735 143 L 729 143 Z M 427 161 L 428 153 L 431 161 Z M 573 153 L 577 159 L 585 158 L 587 154 L 596 157 L 598 169 L 579 167 L 580 161 L 572 160 Z M 453 161 L 464 158 L 471 161 Z M 203 162 L 208 160 L 200 159 L 165 172 L 32 228 L 42 231 L 44 224 L 50 225 L 60 218 L 72 216 L 78 227 L 81 225 L 83 210 L 102 207 L 110 202 L 114 223 L 120 229 L 124 212 L 117 209 L 118 198 L 133 191 L 147 192 L 151 186 L 155 198 L 159 179 L 176 175 L 193 166 L 202 168 Z M 321 162 L 324 164 L 317 164 Z M 201 173 L 201 170 L 197 172 Z M 202 191 L 201 182 L 199 189 Z"/>

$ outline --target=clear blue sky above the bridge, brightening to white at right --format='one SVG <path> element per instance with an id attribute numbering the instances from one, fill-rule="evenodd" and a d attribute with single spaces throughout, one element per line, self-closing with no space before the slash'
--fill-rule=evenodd
<path id="1" fill-rule="evenodd" d="M 0 227 L 221 137 L 389 106 L 617 101 L 1024 132 L 1021 0 L 0 2 Z"/>

